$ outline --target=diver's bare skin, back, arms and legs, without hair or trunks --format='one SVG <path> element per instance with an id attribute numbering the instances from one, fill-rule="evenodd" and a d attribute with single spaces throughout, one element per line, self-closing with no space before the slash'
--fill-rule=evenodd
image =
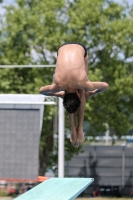
<path id="1" fill-rule="evenodd" d="M 83 121 L 86 100 L 108 87 L 106 82 L 91 82 L 88 79 L 88 56 L 84 58 L 84 53 L 84 48 L 78 44 L 67 44 L 59 48 L 53 83 L 40 88 L 40 92 L 47 96 L 63 98 L 65 93 L 78 94 L 81 101 L 78 112 L 69 114 L 72 131 L 70 141 L 75 146 L 84 142 Z"/>

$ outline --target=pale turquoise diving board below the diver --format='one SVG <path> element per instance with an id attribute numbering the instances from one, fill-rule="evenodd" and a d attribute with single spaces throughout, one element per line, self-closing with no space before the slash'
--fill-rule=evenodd
<path id="1" fill-rule="evenodd" d="M 93 178 L 49 178 L 14 200 L 74 200 Z"/>

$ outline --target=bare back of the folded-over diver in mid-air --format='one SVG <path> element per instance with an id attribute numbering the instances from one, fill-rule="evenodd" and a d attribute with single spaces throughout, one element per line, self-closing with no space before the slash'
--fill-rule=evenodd
<path id="1" fill-rule="evenodd" d="M 67 44 L 58 51 L 54 81 L 58 85 L 77 87 L 88 80 L 85 71 L 84 49 L 77 44 Z"/>

